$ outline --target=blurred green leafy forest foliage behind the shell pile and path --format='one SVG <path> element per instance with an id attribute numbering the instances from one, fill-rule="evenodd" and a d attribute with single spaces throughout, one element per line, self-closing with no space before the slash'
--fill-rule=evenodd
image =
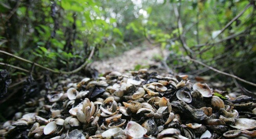
<path id="1" fill-rule="evenodd" d="M 251 0 L 3 0 L 0 12 L 0 49 L 52 69 L 77 68 L 92 47 L 104 59 L 147 40 L 170 51 L 167 63 L 177 72 L 213 74 L 182 59 L 190 56 L 256 82 Z M 31 69 L 10 57 L 0 62 Z"/>

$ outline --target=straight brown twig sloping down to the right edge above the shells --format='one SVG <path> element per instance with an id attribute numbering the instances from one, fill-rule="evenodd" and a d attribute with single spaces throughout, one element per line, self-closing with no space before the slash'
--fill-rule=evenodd
<path id="1" fill-rule="evenodd" d="M 185 57 L 185 59 L 190 60 L 190 61 L 193 61 L 193 62 L 198 63 L 198 64 L 201 64 L 202 66 L 205 66 L 206 68 L 209 68 L 210 70 L 213 70 L 213 71 L 215 71 L 215 72 L 221 73 L 221 74 L 223 74 L 223 75 L 230 76 L 230 77 L 232 77 L 232 78 L 235 78 L 235 79 L 237 79 L 237 80 L 240 80 L 240 81 L 242 81 L 242 82 L 244 82 L 244 83 L 247 83 L 247 84 L 249 84 L 249 85 L 256 86 L 256 83 L 252 83 L 252 82 L 250 82 L 250 81 L 246 81 L 246 80 L 244 80 L 244 79 L 242 79 L 242 78 L 239 78 L 239 77 L 237 77 L 237 76 L 235 76 L 235 75 L 231 75 L 231 74 L 229 74 L 229 73 L 225 73 L 225 72 L 223 72 L 223 71 L 217 70 L 217 69 L 215 69 L 215 68 L 213 68 L 213 67 L 211 67 L 211 66 L 208 66 L 208 65 L 206 65 L 206 64 L 204 64 L 204 63 L 202 63 L 202 62 L 200 62 L 200 61 L 197 61 L 197 60 L 195 60 L 195 59 L 191 59 L 191 58 L 189 58 L 189 57 Z"/>

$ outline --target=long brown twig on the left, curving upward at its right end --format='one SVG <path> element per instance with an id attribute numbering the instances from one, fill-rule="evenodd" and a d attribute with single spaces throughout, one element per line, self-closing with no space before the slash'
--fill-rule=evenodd
<path id="1" fill-rule="evenodd" d="M 92 51 L 91 51 L 91 53 L 90 53 L 88 59 L 86 59 L 85 63 L 83 63 L 79 68 L 77 68 L 77 69 L 75 69 L 75 70 L 73 70 L 73 71 L 55 71 L 55 70 L 52 70 L 52 69 L 47 68 L 47 67 L 45 67 L 45 66 L 42 66 L 42 65 L 40 65 L 40 64 L 34 63 L 34 62 L 32 62 L 32 61 L 29 61 L 29 60 L 27 60 L 27 59 L 21 58 L 21 57 L 19 57 L 19 56 L 15 56 L 15 55 L 13 55 L 13 54 L 7 53 L 7 52 L 2 51 L 2 50 L 0 50 L 0 53 L 7 54 L 7 55 L 9 55 L 9 56 L 12 56 L 12 57 L 14 57 L 14 58 L 16 58 L 16 59 L 19 59 L 19 60 L 21 60 L 21 61 L 24 61 L 24 62 L 27 62 L 27 63 L 30 63 L 30 64 L 34 64 L 35 66 L 38 66 L 38 67 L 40 67 L 40 68 L 42 68 L 42 69 L 51 71 L 52 73 L 58 73 L 58 74 L 73 74 L 73 73 L 76 73 L 76 72 L 80 71 L 81 69 L 83 69 L 83 68 L 88 64 L 88 62 L 92 59 L 94 50 L 95 50 L 95 47 L 92 48 Z"/>

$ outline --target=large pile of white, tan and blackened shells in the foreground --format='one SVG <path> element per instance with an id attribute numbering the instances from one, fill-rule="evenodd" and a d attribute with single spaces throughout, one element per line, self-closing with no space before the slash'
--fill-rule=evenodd
<path id="1" fill-rule="evenodd" d="M 147 70 L 59 80 L 0 126 L 0 139 L 251 139 L 255 99 L 222 96 L 187 75 Z"/>

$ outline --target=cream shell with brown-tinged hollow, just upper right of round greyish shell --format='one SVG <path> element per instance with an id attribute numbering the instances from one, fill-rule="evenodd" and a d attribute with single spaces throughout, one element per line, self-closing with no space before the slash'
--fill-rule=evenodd
<path id="1" fill-rule="evenodd" d="M 195 83 L 193 85 L 193 90 L 199 91 L 203 97 L 212 97 L 211 89 L 206 83 Z"/>

